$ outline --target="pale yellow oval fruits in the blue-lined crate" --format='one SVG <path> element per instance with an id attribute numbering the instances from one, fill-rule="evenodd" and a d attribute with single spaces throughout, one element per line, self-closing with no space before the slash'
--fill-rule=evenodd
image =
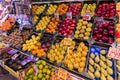
<path id="1" fill-rule="evenodd" d="M 114 80 L 113 60 L 107 57 L 107 49 L 91 46 L 88 75 L 92 79 Z"/>

